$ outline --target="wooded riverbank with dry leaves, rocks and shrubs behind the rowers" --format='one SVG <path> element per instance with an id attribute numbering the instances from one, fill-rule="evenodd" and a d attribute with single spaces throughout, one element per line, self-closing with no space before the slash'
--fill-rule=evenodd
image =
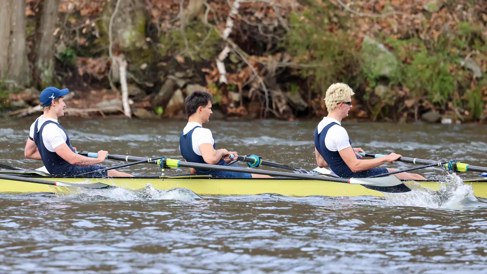
<path id="1" fill-rule="evenodd" d="M 350 118 L 486 121 L 485 1 L 126 2 L 60 1 L 49 84 L 71 90 L 69 115 L 179 118 L 202 90 L 225 117 L 322 117 L 343 81 Z M 33 42 L 35 0 L 26 15 Z M 46 84 L 2 85 L 1 110 L 36 110 Z"/>

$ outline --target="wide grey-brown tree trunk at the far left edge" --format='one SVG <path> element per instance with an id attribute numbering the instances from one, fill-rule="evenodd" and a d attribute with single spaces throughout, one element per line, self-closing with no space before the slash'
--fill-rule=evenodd
<path id="1" fill-rule="evenodd" d="M 29 83 L 25 46 L 25 0 L 0 0 L 0 79 L 7 87 Z"/>

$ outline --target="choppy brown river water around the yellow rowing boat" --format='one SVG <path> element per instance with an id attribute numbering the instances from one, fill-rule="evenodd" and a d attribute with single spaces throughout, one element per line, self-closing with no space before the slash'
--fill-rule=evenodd
<path id="1" fill-rule="evenodd" d="M 23 157 L 35 118 L 0 121 L 2 163 L 42 165 Z M 175 158 L 180 158 L 185 123 L 61 120 L 78 150 Z M 210 121 L 205 126 L 219 148 L 312 169 L 317 123 Z M 344 126 L 354 147 L 370 153 L 487 164 L 485 125 Z M 153 165 L 122 170 L 159 172 Z M 169 171 L 176 172 L 187 170 Z M 437 168 L 418 173 L 446 175 Z M 0 194 L 0 273 L 487 273 L 487 201 L 452 179 L 443 198 L 420 191 L 385 198 L 217 197 L 150 186 L 69 196 Z"/>

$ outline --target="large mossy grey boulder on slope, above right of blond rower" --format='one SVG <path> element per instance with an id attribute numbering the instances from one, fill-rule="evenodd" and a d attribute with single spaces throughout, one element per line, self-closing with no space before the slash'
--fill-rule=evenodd
<path id="1" fill-rule="evenodd" d="M 390 77 L 398 66 L 396 57 L 388 51 L 384 44 L 365 36 L 360 55 L 364 59 L 364 70 L 367 74 Z"/>

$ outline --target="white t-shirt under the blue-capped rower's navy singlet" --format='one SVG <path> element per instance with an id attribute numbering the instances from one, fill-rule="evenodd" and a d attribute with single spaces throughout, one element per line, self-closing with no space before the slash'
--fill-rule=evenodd
<path id="1" fill-rule="evenodd" d="M 39 132 L 40 127 L 42 124 L 44 124 L 46 121 L 53 121 L 58 123 L 56 119 L 53 118 L 43 118 L 43 115 L 37 118 L 39 120 L 39 123 L 37 124 L 37 132 Z M 37 121 L 37 120 L 36 120 Z M 36 126 L 36 122 L 34 121 L 31 125 L 30 132 L 29 132 L 29 137 L 34 139 L 34 127 Z M 56 126 L 53 123 L 49 123 L 44 127 L 44 130 L 42 130 L 42 142 L 44 143 L 44 146 L 49 150 L 50 152 L 55 152 L 54 149 L 63 143 L 66 143 L 66 134 L 64 131 Z"/>

